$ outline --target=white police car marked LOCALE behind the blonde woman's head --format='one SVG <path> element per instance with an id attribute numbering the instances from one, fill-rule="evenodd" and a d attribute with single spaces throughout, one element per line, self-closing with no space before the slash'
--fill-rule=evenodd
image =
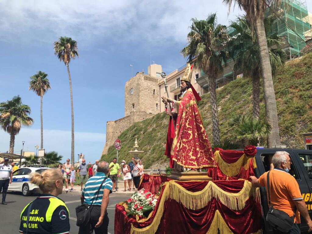
<path id="1" fill-rule="evenodd" d="M 41 173 L 49 169 L 47 167 L 23 167 L 13 172 L 12 183 L 9 184 L 8 191 L 22 192 L 23 196 L 28 196 L 33 190 L 39 190 L 38 186 L 29 182 L 30 174 Z"/>

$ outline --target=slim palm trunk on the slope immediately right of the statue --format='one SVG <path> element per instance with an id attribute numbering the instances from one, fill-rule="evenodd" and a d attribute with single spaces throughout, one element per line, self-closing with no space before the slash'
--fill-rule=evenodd
<path id="1" fill-rule="evenodd" d="M 219 118 L 217 108 L 217 93 L 216 93 L 216 77 L 209 77 L 209 90 L 210 90 L 210 102 L 212 112 L 212 136 L 213 144 L 220 144 L 220 129 L 219 129 Z"/>

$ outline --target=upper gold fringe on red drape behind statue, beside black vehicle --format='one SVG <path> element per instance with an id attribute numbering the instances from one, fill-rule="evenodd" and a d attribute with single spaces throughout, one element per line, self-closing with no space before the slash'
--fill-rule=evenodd
<path id="1" fill-rule="evenodd" d="M 219 154 L 219 150 L 214 153 L 214 157 L 222 173 L 227 176 L 236 176 L 242 166 L 248 170 L 250 160 L 252 160 L 253 168 L 257 168 L 255 157 L 247 157 L 246 154 L 243 154 L 235 163 L 226 163 Z"/>

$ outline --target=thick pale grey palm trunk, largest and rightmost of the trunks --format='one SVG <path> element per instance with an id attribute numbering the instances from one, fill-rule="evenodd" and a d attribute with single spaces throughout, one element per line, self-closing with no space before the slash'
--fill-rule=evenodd
<path id="1" fill-rule="evenodd" d="M 266 104 L 266 117 L 272 128 L 271 134 L 269 136 L 269 147 L 275 147 L 275 145 L 280 145 L 280 132 L 278 128 L 276 100 L 268 45 L 266 44 L 266 32 L 264 30 L 263 17 L 258 17 L 256 19 L 255 28 L 260 49 L 260 62 L 263 79 L 264 101 Z"/>

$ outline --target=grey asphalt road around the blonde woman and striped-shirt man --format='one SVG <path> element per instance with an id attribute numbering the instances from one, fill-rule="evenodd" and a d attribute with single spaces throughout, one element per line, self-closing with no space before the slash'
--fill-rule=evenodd
<path id="1" fill-rule="evenodd" d="M 119 202 L 129 199 L 131 194 L 110 194 L 110 202 L 107 207 L 108 217 L 110 219 L 108 225 L 108 233 L 114 234 L 114 219 L 115 219 L 115 205 Z M 0 195 L 0 198 L 2 194 Z M 1 233 L 18 233 L 18 229 L 21 223 L 20 215 L 22 209 L 32 200 L 34 200 L 37 195 L 32 195 L 29 197 L 23 197 L 22 193 L 18 192 L 8 192 L 6 202 L 7 205 L 2 205 L 0 203 L 0 227 Z M 80 205 L 80 195 L 76 192 L 65 191 L 59 197 L 65 202 L 69 212 L 70 212 L 70 233 L 78 233 L 79 227 L 76 226 L 76 211 L 75 208 Z"/>

